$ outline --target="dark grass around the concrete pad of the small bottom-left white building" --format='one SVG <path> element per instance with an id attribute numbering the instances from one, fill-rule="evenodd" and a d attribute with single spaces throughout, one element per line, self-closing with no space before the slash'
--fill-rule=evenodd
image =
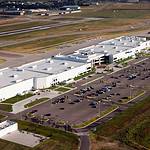
<path id="1" fill-rule="evenodd" d="M 29 148 L 23 145 L 12 143 L 0 139 L 1 150 L 77 150 L 78 137 L 71 133 L 66 133 L 61 130 L 53 129 L 50 127 L 43 127 L 33 123 L 18 121 L 19 129 L 29 132 L 41 134 L 50 137 L 50 139 L 40 143 L 34 148 Z"/>

